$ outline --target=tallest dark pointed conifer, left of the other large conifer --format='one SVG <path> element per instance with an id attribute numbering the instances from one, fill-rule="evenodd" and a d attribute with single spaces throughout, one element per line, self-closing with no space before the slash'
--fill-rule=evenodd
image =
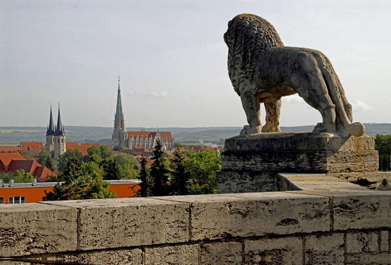
<path id="1" fill-rule="evenodd" d="M 168 177 L 170 174 L 168 164 L 164 158 L 164 152 L 162 150 L 160 140 L 156 140 L 155 150 L 153 151 L 154 157 L 152 157 L 153 164 L 151 166 L 151 179 L 153 179 L 152 192 L 154 196 L 167 196 L 169 195 Z"/>

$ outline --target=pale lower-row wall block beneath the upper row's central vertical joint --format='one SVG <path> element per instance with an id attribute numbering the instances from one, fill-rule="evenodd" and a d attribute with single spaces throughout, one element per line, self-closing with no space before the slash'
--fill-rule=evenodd
<path id="1" fill-rule="evenodd" d="M 144 265 L 198 265 L 199 245 L 175 245 L 146 248 Z"/>

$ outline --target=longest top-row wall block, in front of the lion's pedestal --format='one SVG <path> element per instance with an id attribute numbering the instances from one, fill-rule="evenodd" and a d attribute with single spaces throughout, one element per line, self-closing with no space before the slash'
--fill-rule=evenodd
<path id="1" fill-rule="evenodd" d="M 288 192 L 159 197 L 191 204 L 191 240 L 329 231 L 329 199 Z"/>

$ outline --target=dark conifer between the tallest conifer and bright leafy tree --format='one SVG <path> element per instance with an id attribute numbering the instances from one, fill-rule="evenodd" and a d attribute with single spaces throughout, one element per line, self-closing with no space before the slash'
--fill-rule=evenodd
<path id="1" fill-rule="evenodd" d="M 189 174 L 186 171 L 186 158 L 177 145 L 174 157 L 170 158 L 171 168 L 171 189 L 174 195 L 187 195 L 189 185 Z"/>

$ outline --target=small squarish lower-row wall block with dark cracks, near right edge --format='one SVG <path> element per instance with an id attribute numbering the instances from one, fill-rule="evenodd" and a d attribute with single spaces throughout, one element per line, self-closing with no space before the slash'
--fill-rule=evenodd
<path id="1" fill-rule="evenodd" d="M 377 232 L 346 233 L 346 253 L 376 253 L 379 250 Z"/>

